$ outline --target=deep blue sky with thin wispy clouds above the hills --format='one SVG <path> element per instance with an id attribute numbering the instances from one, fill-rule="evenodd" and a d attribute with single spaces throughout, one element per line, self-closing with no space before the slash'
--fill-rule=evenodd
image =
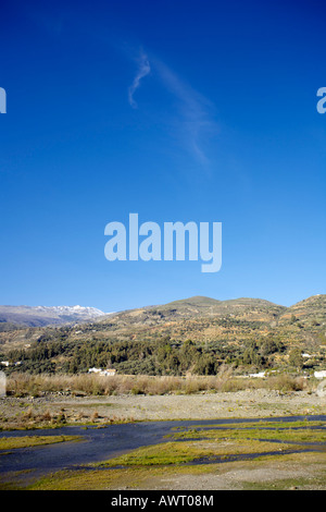
<path id="1" fill-rule="evenodd" d="M 0 303 L 325 293 L 323 2 L 1 4 Z M 104 227 L 223 223 L 223 266 L 108 261 Z"/>

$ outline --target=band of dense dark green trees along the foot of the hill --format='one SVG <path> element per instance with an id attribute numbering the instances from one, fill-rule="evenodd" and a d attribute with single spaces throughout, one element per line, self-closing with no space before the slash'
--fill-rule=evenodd
<path id="1" fill-rule="evenodd" d="M 77 374 L 91 367 L 114 367 L 122 374 L 216 375 L 222 364 L 234 368 L 273 367 L 276 354 L 285 351 L 284 344 L 273 337 L 264 342 L 244 342 L 240 348 L 198 345 L 191 340 L 172 342 L 168 338 L 153 341 L 83 341 L 48 340 L 41 338 L 28 350 L 13 350 L 7 354 L 10 362 L 20 362 L 9 369 L 30 374 Z"/>

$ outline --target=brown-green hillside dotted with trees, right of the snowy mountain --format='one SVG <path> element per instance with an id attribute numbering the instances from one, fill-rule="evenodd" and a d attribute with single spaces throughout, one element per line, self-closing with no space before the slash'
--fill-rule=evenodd
<path id="1" fill-rule="evenodd" d="M 237 373 L 312 371 L 326 363 L 325 326 L 326 295 L 291 307 L 260 298 L 195 296 L 78 326 L 2 332 L 0 352 L 32 373 L 114 366 L 126 374 L 206 375 L 222 364 Z"/>

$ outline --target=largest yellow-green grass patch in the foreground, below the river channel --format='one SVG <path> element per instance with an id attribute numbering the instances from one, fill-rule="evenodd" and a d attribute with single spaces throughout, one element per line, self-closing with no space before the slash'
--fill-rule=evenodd
<path id="1" fill-rule="evenodd" d="M 34 484 L 26 485 L 28 489 L 39 490 L 100 490 L 100 489 L 129 489 L 166 488 L 166 478 L 172 480 L 177 475 L 221 474 L 230 468 L 254 467 L 256 464 L 268 464 L 286 461 L 288 458 L 300 456 L 284 453 L 287 449 L 297 448 L 287 443 L 271 443 L 253 439 L 204 441 L 171 441 L 143 447 L 104 463 L 89 464 L 84 470 L 70 470 L 45 476 Z M 300 449 L 300 448 L 299 448 Z M 278 455 L 269 455 L 278 452 Z M 228 461 L 229 455 L 261 453 L 259 461 Z M 265 455 L 264 455 L 265 453 Z M 223 464 L 215 462 L 220 456 Z M 306 456 L 306 454 L 305 454 Z M 196 459 L 211 458 L 210 463 L 201 465 L 187 465 Z M 291 460 L 291 459 L 289 459 Z M 226 470 L 228 467 L 228 470 Z M 278 466 L 277 466 L 278 467 Z M 277 472 L 276 472 L 277 475 Z M 162 484 L 164 481 L 164 484 Z M 243 483 L 243 485 L 247 485 Z M 250 485 L 250 484 L 249 484 Z M 264 484 L 262 484 L 263 486 Z"/>

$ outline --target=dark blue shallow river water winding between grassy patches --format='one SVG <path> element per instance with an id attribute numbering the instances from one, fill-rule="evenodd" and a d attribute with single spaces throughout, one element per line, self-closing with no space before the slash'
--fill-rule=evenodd
<path id="1" fill-rule="evenodd" d="M 168 442 L 171 438 L 165 436 L 176 432 L 178 428 L 189 427 L 227 427 L 229 424 L 265 422 L 294 422 L 294 420 L 326 420 L 326 416 L 290 416 L 273 418 L 250 419 L 204 419 L 204 420 L 171 420 L 171 422 L 145 422 L 123 425 L 109 425 L 105 427 L 67 426 L 55 429 L 14 430 L 2 431 L 1 437 L 24 436 L 82 436 L 78 442 L 60 442 L 41 447 L 14 449 L 10 453 L 0 451 L 0 481 L 8 472 L 32 470 L 34 476 L 41 476 L 60 470 L 72 470 L 85 464 L 106 461 L 117 455 L 127 453 L 140 447 L 148 447 L 160 442 Z M 204 434 L 204 431 L 203 431 Z M 193 439 L 192 439 L 193 440 Z M 277 439 L 276 439 L 277 440 Z M 298 444 L 296 442 L 296 444 Z M 306 444 L 306 443 L 304 443 Z M 325 450 L 325 444 L 319 446 Z M 318 449 L 318 446 L 315 447 Z M 278 454 L 281 452 L 277 452 Z M 283 452 L 286 453 L 286 452 Z M 260 456 L 260 454 L 252 454 Z M 239 455 L 237 455 L 239 458 Z M 239 459 L 238 459 L 239 460 Z M 212 461 L 212 460 L 211 460 Z M 215 463 L 218 462 L 217 459 Z M 222 461 L 221 461 L 222 462 Z M 193 463 L 208 463 L 195 461 Z M 193 464 L 192 463 L 192 464 Z"/>

